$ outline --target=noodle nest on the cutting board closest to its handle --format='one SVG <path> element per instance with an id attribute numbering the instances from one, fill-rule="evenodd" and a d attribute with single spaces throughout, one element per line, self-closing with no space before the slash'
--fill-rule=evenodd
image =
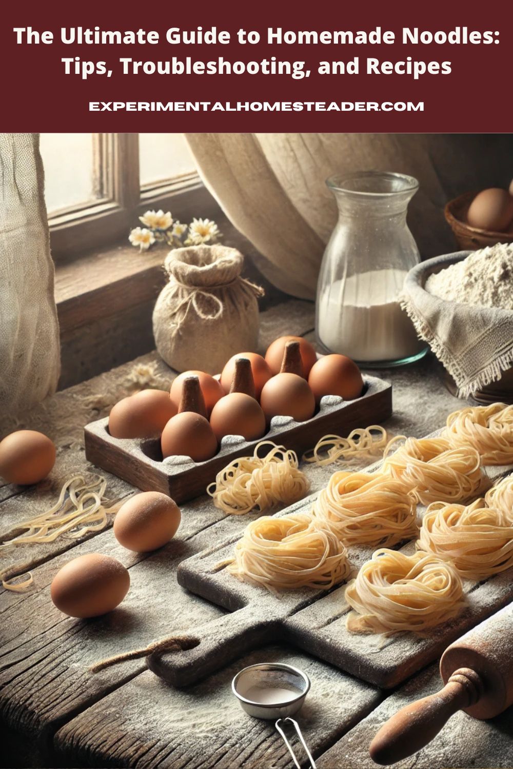
<path id="1" fill-rule="evenodd" d="M 327 590 L 348 577 L 347 551 L 305 513 L 265 516 L 248 524 L 228 565 L 238 579 L 272 593 L 297 588 Z"/>

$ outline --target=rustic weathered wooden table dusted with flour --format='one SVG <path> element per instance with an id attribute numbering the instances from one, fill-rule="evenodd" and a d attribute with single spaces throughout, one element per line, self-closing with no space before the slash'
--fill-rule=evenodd
<path id="1" fill-rule="evenodd" d="M 306 302 L 270 308 L 261 314 L 261 347 L 284 333 L 311 335 L 313 325 L 313 308 Z M 386 424 L 392 433 L 427 434 L 461 405 L 441 384 L 432 358 L 381 375 L 394 385 L 394 416 Z M 20 421 L 4 421 L 2 433 L 28 426 L 47 432 L 58 445 L 58 458 L 51 478 L 38 488 L 0 488 L 0 533 L 48 509 L 75 471 L 92 470 L 85 460 L 84 424 L 108 414 L 123 395 L 148 384 L 167 387 L 172 378 L 155 354 L 146 355 L 55 394 Z M 312 491 L 331 471 L 311 471 Z M 129 484 L 108 476 L 109 496 L 132 491 Z M 241 648 L 234 664 L 183 690 L 155 677 L 144 661 L 99 674 L 88 671 L 90 664 L 111 654 L 220 616 L 220 608 L 178 587 L 175 570 L 184 558 L 212 544 L 212 524 L 228 535 L 247 520 L 225 518 L 205 496 L 182 505 L 175 540 L 154 554 L 124 550 L 110 529 L 80 541 L 2 552 L 2 569 L 19 573 L 30 568 L 35 580 L 25 594 L 0 591 L 3 767 L 290 767 L 274 727 L 245 715 L 230 690 L 240 667 L 270 659 L 298 665 L 311 677 L 300 721 L 318 767 L 375 766 L 368 757 L 371 736 L 408 698 L 435 691 L 435 665 L 387 695 L 285 644 L 252 652 Z M 131 589 L 123 604 L 104 618 L 66 618 L 50 601 L 49 585 L 62 564 L 92 551 L 122 561 L 130 570 Z M 511 767 L 511 731 L 511 708 L 488 722 L 458 714 L 431 746 L 400 765 Z"/>

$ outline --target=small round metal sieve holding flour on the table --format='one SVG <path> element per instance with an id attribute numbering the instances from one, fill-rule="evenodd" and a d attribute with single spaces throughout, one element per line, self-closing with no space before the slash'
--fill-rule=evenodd
<path id="1" fill-rule="evenodd" d="M 301 734 L 297 721 L 291 715 L 297 713 L 310 689 L 310 679 L 298 670 L 297 667 L 281 664 L 281 662 L 265 662 L 244 667 L 232 681 L 232 691 L 243 710 L 255 718 L 264 718 L 274 721 L 275 727 L 288 751 L 291 754 L 295 767 L 300 769 L 301 764 L 295 756 L 294 750 L 283 731 L 283 727 L 289 722 L 295 729 L 299 741 L 303 746 L 311 769 L 315 769 L 315 761 L 311 757 L 307 744 Z"/>

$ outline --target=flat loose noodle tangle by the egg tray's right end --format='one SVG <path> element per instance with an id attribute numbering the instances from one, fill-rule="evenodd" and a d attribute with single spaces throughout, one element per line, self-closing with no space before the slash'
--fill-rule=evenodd
<path id="1" fill-rule="evenodd" d="M 340 435 L 325 435 L 315 448 L 307 451 L 303 457 L 305 462 L 315 462 L 319 466 L 333 462 L 346 462 L 355 458 L 379 455 L 387 444 L 387 431 L 379 424 L 371 424 L 369 428 L 358 428 L 348 434 L 347 438 Z"/>

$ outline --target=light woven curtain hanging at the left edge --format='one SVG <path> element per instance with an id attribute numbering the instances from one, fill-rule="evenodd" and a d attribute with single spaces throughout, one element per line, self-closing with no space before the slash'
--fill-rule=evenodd
<path id="1" fill-rule="evenodd" d="M 0 134 L 0 421 L 55 391 L 59 335 L 38 134 Z"/>

